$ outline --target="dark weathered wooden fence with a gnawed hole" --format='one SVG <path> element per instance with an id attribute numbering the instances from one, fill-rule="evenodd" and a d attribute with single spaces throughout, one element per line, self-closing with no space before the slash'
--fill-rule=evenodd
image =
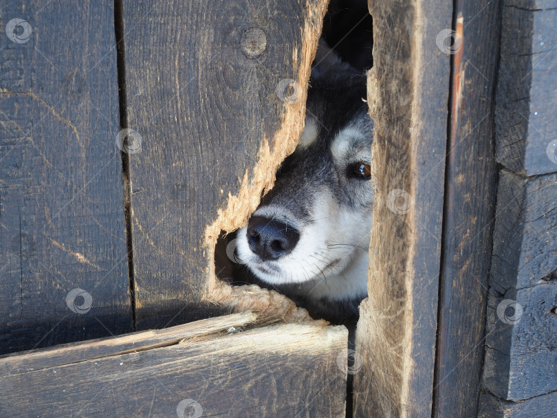
<path id="1" fill-rule="evenodd" d="M 298 140 L 326 8 L 0 8 L 1 416 L 345 417 L 353 374 L 355 417 L 557 417 L 552 1 L 370 0 L 356 347 L 216 278 Z"/>

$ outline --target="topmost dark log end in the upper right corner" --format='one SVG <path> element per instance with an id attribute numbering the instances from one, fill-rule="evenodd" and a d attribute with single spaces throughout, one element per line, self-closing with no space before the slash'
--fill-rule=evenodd
<path id="1" fill-rule="evenodd" d="M 551 0 L 503 0 L 496 157 L 525 175 L 557 171 L 557 47 Z"/>

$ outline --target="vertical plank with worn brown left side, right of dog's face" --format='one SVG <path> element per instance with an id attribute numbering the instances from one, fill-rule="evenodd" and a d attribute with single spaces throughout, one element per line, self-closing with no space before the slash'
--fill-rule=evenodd
<path id="1" fill-rule="evenodd" d="M 431 415 L 450 58 L 435 39 L 450 28 L 442 1 L 371 1 L 378 191 L 369 298 L 360 305 L 356 417 Z M 424 17 L 427 16 L 427 19 Z M 398 197 L 397 197 L 398 196 Z"/>

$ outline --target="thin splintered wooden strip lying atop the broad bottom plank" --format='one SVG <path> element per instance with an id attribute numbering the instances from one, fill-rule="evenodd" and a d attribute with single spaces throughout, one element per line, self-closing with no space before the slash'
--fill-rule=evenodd
<path id="1" fill-rule="evenodd" d="M 149 331 L 138 331 L 120 337 L 70 342 L 49 349 L 9 354 L 0 358 L 0 375 L 14 375 L 110 355 L 164 347 L 177 344 L 180 340 L 186 338 L 200 338 L 201 336 L 226 331 L 231 327 L 232 329 L 241 329 L 241 327 L 256 322 L 256 319 L 255 314 L 243 312 L 242 314 L 219 316 L 166 329 L 150 329 Z"/>

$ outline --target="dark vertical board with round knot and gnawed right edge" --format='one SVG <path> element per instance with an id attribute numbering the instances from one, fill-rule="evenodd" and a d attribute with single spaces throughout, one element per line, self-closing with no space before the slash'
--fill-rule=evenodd
<path id="1" fill-rule="evenodd" d="M 214 269 L 207 225 L 249 184 L 255 191 L 230 210 L 237 219 L 226 228 L 241 226 L 293 151 L 326 4 L 123 5 L 128 125 L 142 138 L 130 177 L 137 325 L 144 329 L 220 312 L 201 302 Z M 292 100 L 284 99 L 285 80 L 296 80 Z M 265 173 L 255 179 L 265 155 Z"/>

